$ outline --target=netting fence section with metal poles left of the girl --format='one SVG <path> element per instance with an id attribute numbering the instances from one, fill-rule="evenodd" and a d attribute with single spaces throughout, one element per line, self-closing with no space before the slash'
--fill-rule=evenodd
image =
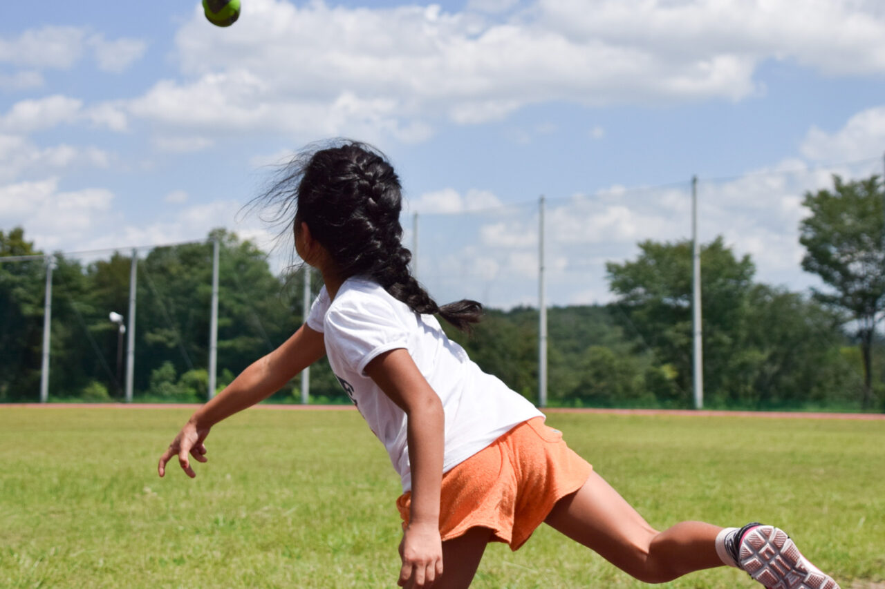
<path id="1" fill-rule="evenodd" d="M 303 320 L 303 270 L 274 271 L 229 233 L 217 240 L 214 296 L 213 240 L 5 260 L 0 402 L 202 402 L 278 347 Z M 300 402 L 303 384 L 270 401 Z M 311 384 L 313 401 L 346 399 L 326 363 Z"/>

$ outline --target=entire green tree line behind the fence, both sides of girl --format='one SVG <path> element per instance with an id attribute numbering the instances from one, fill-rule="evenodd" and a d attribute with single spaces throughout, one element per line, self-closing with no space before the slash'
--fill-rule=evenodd
<path id="1" fill-rule="evenodd" d="M 832 190 L 805 195 L 803 266 L 826 285 L 812 293 L 758 282 L 750 256 L 735 256 L 721 237 L 702 244 L 706 407 L 881 409 L 882 197 L 875 176 L 835 177 Z M 137 266 L 136 401 L 205 398 L 212 240 L 221 248 L 219 386 L 303 321 L 302 274 L 275 276 L 266 255 L 234 233 L 152 249 Z M 610 304 L 548 310 L 551 405 L 692 406 L 691 243 L 643 241 L 639 251 L 607 264 Z M 22 228 L 0 231 L 0 256 L 39 254 Z M 127 311 L 132 260 L 52 257 L 50 396 L 120 399 L 125 350 L 108 312 Z M 36 400 L 45 275 L 40 258 L 0 264 L 0 402 Z M 487 310 L 469 337 L 449 331 L 483 370 L 536 400 L 537 325 L 536 309 Z M 298 385 L 272 400 L 295 402 Z M 312 370 L 311 393 L 347 400 L 325 361 Z"/>

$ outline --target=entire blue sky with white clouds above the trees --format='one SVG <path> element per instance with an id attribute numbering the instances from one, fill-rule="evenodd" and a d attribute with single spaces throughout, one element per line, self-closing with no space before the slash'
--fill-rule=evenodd
<path id="1" fill-rule="evenodd" d="M 419 268 L 457 274 L 422 277 L 440 298 L 532 302 L 545 195 L 552 302 L 604 301 L 604 261 L 689 236 L 692 174 L 702 239 L 722 234 L 759 279 L 803 289 L 804 191 L 882 170 L 878 2 L 242 0 L 226 29 L 196 2 L 129 4 L 4 9 L 0 228 L 38 248 L 215 226 L 265 246 L 237 215 L 264 166 L 349 136 L 400 172 Z M 507 204 L 519 213 L 440 233 L 435 213 Z"/>

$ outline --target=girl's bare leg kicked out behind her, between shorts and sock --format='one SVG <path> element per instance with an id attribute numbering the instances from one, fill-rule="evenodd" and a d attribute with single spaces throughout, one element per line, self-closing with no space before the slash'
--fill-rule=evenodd
<path id="1" fill-rule="evenodd" d="M 596 471 L 576 493 L 558 501 L 544 521 L 646 583 L 722 566 L 715 547 L 722 528 L 682 522 L 658 532 Z"/>

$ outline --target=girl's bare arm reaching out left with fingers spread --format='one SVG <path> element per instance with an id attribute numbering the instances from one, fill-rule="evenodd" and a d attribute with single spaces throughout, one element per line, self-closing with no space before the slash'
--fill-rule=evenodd
<path id="1" fill-rule="evenodd" d="M 280 390 L 298 372 L 325 354 L 323 334 L 312 330 L 306 324 L 302 325 L 289 340 L 267 356 L 251 363 L 234 379 L 234 382 L 196 410 L 188 423 L 181 428 L 181 432 L 175 436 L 172 444 L 160 456 L 157 467 L 159 476 L 165 475 L 166 463 L 174 455 L 178 455 L 181 469 L 190 478 L 196 477 L 188 455 L 192 455 L 198 462 L 206 462 L 206 447 L 203 442 L 209 435 L 212 425 L 265 400 Z"/>

